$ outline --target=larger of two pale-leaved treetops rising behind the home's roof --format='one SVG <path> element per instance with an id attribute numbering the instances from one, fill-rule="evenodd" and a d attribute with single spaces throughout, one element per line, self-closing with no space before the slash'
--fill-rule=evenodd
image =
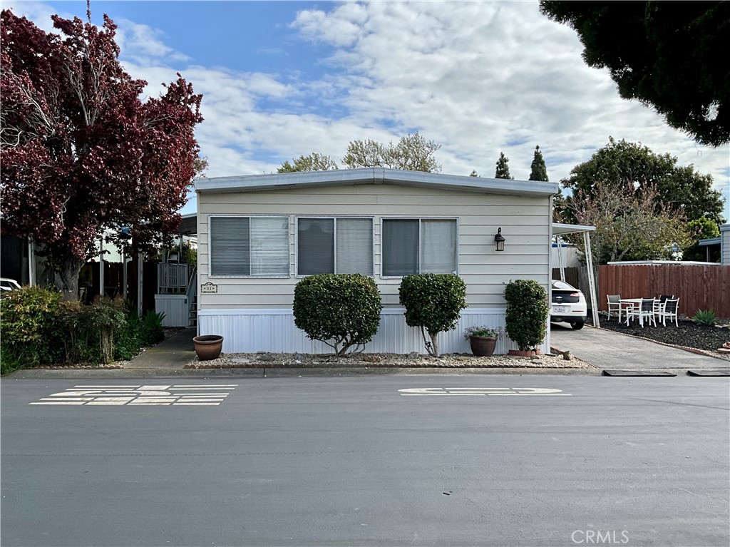
<path id="1" fill-rule="evenodd" d="M 408 134 L 393 144 L 387 145 L 374 140 L 354 140 L 347 145 L 342 163 L 349 169 L 358 167 L 387 167 L 407 171 L 440 172 L 441 166 L 434 153 L 441 148 L 432 140 L 420 134 Z"/>

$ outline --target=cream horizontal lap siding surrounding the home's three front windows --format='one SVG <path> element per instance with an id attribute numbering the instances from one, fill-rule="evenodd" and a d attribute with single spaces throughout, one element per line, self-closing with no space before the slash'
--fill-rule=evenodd
<path id="1" fill-rule="evenodd" d="M 362 184 L 276 191 L 200 192 L 198 194 L 199 284 L 210 268 L 209 223 L 217 215 L 290 215 L 289 260 L 296 272 L 296 218 L 363 218 L 373 222 L 374 279 L 383 305 L 399 307 L 401 278 L 383 278 L 383 220 L 389 218 L 457 218 L 458 275 L 466 283 L 469 307 L 504 307 L 504 283 L 533 279 L 548 289 L 550 200 L 540 196 L 480 194 L 415 188 L 395 184 Z M 494 250 L 502 227 L 504 252 Z M 199 294 L 201 310 L 288 309 L 299 279 L 214 278 L 215 294 Z"/>

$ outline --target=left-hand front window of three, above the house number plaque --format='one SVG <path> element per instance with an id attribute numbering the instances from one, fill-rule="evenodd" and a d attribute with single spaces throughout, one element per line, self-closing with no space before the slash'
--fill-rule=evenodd
<path id="1" fill-rule="evenodd" d="M 289 275 L 289 218 L 211 217 L 210 275 Z"/>

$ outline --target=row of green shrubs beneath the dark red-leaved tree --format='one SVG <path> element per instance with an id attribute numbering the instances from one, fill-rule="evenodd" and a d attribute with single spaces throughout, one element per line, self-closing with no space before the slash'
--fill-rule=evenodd
<path id="1" fill-rule="evenodd" d="M 47 288 L 23 287 L 0 300 L 0 372 L 131 359 L 164 338 L 162 318 L 154 312 L 137 318 L 122 299 L 85 306 Z"/>

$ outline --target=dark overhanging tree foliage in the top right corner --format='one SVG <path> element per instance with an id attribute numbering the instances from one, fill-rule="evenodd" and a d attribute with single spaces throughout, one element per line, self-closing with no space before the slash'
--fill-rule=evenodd
<path id="1" fill-rule="evenodd" d="M 730 3 L 540 1 L 575 29 L 588 66 L 607 68 L 623 99 L 637 99 L 697 142 L 730 141 Z"/>

